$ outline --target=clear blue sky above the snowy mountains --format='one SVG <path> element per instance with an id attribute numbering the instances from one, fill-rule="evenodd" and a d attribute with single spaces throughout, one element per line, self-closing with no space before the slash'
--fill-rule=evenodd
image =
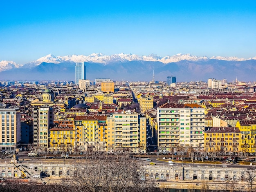
<path id="1" fill-rule="evenodd" d="M 0 61 L 121 52 L 254 57 L 256 1 L 0 1 Z"/>

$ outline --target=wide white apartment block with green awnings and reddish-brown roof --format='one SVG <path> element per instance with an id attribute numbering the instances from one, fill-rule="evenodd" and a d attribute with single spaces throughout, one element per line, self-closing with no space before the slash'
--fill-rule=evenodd
<path id="1" fill-rule="evenodd" d="M 198 104 L 165 103 L 157 108 L 158 149 L 204 147 L 204 108 Z"/>

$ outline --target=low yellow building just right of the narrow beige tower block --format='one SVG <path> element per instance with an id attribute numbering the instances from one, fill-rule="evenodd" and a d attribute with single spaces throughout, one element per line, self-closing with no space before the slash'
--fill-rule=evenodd
<path id="1" fill-rule="evenodd" d="M 55 127 L 49 129 L 49 150 L 51 152 L 73 152 L 73 127 Z"/>

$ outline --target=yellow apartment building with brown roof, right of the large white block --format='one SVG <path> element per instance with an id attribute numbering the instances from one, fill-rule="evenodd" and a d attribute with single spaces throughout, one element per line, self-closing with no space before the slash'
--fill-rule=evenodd
<path id="1" fill-rule="evenodd" d="M 212 127 L 204 132 L 204 150 L 240 152 L 241 132 L 238 127 Z"/>

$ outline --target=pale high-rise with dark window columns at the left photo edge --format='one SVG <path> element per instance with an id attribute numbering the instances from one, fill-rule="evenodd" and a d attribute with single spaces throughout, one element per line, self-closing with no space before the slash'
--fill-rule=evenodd
<path id="1" fill-rule="evenodd" d="M 20 144 L 20 108 L 0 108 L 0 150 L 14 152 Z"/>

